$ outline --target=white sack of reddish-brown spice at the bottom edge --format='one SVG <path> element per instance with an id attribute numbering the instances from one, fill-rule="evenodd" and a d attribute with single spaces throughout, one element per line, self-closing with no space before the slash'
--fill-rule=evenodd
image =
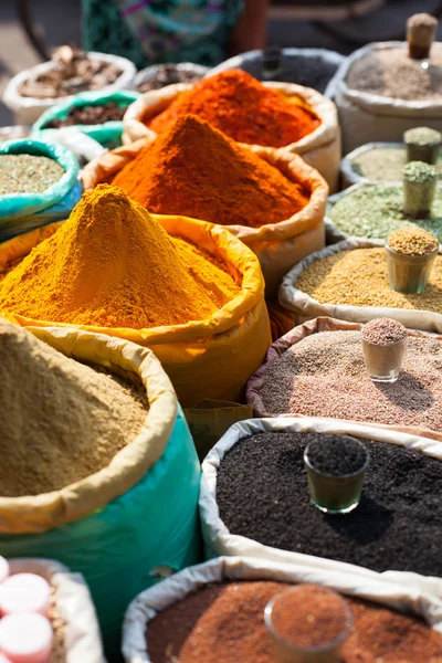
<path id="1" fill-rule="evenodd" d="M 287 606 L 286 625 L 294 636 L 304 635 L 304 646 L 312 641 L 318 645 L 341 628 L 335 620 L 341 610 L 339 594 L 345 599 L 352 629 L 340 651 L 343 663 L 361 656 L 414 663 L 442 653 L 441 603 L 412 583 L 365 569 L 318 569 L 314 559 L 288 565 L 220 557 L 168 578 L 133 601 L 123 631 L 125 661 L 158 663 L 171 654 L 182 663 L 272 663 L 264 611 L 288 588 L 298 589 L 285 596 L 303 603 L 296 610 L 293 602 L 292 610 Z"/>

